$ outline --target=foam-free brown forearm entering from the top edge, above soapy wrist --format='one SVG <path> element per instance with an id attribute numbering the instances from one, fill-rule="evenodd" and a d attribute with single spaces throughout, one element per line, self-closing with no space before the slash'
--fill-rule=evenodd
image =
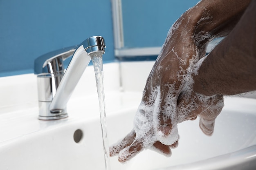
<path id="1" fill-rule="evenodd" d="M 213 38 L 230 33 L 249 2 L 250 0 L 202 0 L 186 11 L 185 15 L 190 17 L 193 38 L 200 54 L 205 53 L 208 42 Z"/>

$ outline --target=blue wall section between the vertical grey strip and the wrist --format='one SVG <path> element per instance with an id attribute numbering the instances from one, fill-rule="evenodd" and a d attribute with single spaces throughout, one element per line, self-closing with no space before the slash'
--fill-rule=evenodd
<path id="1" fill-rule="evenodd" d="M 172 24 L 199 0 L 122 0 L 124 47 L 162 46 Z"/>

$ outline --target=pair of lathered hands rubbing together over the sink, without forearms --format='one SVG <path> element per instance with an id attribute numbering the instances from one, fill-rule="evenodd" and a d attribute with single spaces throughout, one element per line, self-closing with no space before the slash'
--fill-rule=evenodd
<path id="1" fill-rule="evenodd" d="M 200 116 L 200 128 L 211 135 L 214 121 L 223 107 L 222 96 L 204 96 L 192 89 L 193 75 L 205 55 L 198 49 L 189 18 L 181 17 L 171 27 L 162 51 L 147 79 L 141 104 L 135 115 L 134 129 L 110 147 L 110 156 L 119 154 L 126 162 L 144 149 L 151 148 L 171 156 L 178 145 L 177 124 Z M 202 44 L 201 44 L 202 45 Z"/>

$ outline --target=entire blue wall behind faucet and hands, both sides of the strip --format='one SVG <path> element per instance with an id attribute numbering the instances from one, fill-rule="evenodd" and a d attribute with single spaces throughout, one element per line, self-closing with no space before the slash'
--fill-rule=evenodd
<path id="1" fill-rule="evenodd" d="M 162 46 L 173 22 L 197 2 L 122 0 L 125 47 Z M 0 77 L 33 73 L 36 57 L 94 35 L 105 38 L 103 62 L 112 62 L 111 0 L 0 0 Z"/>

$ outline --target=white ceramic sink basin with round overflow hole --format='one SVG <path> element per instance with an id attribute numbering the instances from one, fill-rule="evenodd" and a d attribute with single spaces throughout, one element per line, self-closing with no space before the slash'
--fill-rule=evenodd
<path id="1" fill-rule="evenodd" d="M 108 69 L 104 71 L 106 80 Z M 136 83 L 143 87 L 143 81 Z M 113 144 L 132 129 L 142 90 L 129 89 L 127 84 L 125 88 L 109 89 L 106 84 L 108 140 Z M 38 107 L 34 104 L 0 108 L 0 169 L 104 170 L 99 104 L 96 89 L 93 90 L 95 93 L 75 94 L 70 99 L 66 119 L 38 120 Z M 145 150 L 126 164 L 111 157 L 111 169 L 255 169 L 256 99 L 225 97 L 225 107 L 216 119 L 211 137 L 201 132 L 199 119 L 185 121 L 178 129 L 179 146 L 172 150 L 171 157 Z"/>

